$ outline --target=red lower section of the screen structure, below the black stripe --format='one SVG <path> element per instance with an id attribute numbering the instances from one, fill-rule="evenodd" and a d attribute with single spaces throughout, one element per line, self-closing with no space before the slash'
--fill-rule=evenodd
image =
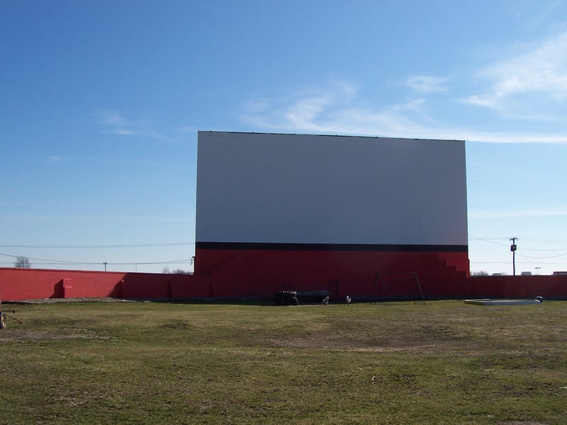
<path id="1" fill-rule="evenodd" d="M 380 276 L 376 273 L 398 273 Z M 330 290 L 335 298 L 463 294 L 466 252 L 272 251 L 198 249 L 196 274 L 210 276 L 214 297 L 270 296 L 276 290 Z"/>

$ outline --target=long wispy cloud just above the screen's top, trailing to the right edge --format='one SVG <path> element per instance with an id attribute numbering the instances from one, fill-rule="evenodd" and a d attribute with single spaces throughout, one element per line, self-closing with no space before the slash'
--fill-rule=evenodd
<path id="1" fill-rule="evenodd" d="M 371 135 L 492 143 L 567 143 L 567 134 L 482 131 L 457 128 L 432 119 L 423 98 L 371 106 L 352 84 L 302 89 L 274 98 L 249 101 L 242 120 L 269 131 Z"/>

